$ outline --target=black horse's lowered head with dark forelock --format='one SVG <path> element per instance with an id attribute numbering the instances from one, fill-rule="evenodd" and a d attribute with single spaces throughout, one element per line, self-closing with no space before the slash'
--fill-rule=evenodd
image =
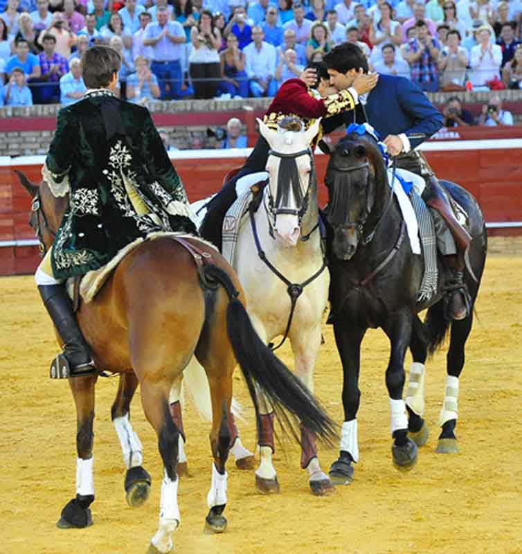
<path id="1" fill-rule="evenodd" d="M 350 260 L 375 206 L 377 190 L 386 179 L 384 158 L 370 134 L 347 134 L 334 148 L 321 142 L 330 154 L 325 184 L 328 189 L 327 221 L 334 230 L 336 258 Z"/>

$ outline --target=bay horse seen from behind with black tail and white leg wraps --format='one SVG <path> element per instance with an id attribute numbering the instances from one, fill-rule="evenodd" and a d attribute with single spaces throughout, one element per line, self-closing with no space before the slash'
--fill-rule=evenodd
<path id="1" fill-rule="evenodd" d="M 69 198 L 53 197 L 44 181 L 38 187 L 23 179 L 22 184 L 33 196 L 30 224 L 42 249 L 48 249 Z M 192 355 L 206 371 L 213 411 L 210 447 L 214 462 L 207 497 L 208 530 L 221 533 L 227 525 L 223 515 L 225 464 L 230 447 L 228 413 L 236 362 L 253 400 L 258 429 L 261 429 L 260 405 L 256 390 L 267 395 L 283 431 L 296 440 L 292 416 L 325 440 L 334 436 L 333 422 L 312 394 L 255 333 L 244 302 L 237 276 L 213 247 L 195 237 L 181 240 L 163 237 L 145 240 L 132 250 L 93 301 L 82 303 L 77 312 L 96 366 L 133 375 L 126 383 L 120 382 L 118 393 L 122 404 L 127 402 L 127 393 L 134 392 L 139 383 L 145 416 L 158 437 L 164 476 L 159 527 L 151 539 L 149 554 L 172 552 L 171 535 L 179 526 L 179 429 L 171 417 L 168 398 L 173 382 Z M 77 412 L 77 494 L 62 510 L 60 527 L 82 528 L 92 524 L 89 506 L 94 500 L 92 452 L 97 377 L 69 379 Z M 128 406 L 116 406 L 116 411 L 125 407 Z M 132 433 L 125 425 L 120 431 Z M 127 438 L 132 457 L 134 437 Z M 150 477 L 141 466 L 133 466 L 127 471 L 126 480 L 136 476 L 143 485 L 136 490 L 138 504 L 146 494 Z"/>

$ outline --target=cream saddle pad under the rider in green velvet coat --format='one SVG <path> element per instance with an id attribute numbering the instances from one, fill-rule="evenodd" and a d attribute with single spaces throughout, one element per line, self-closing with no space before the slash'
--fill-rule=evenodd
<path id="1" fill-rule="evenodd" d="M 93 271 L 89 271 L 88 273 L 86 273 L 80 281 L 80 298 L 82 298 L 82 301 L 84 301 L 85 303 L 93 301 L 93 298 L 105 284 L 105 281 L 107 281 L 107 279 L 111 276 L 111 273 L 114 271 L 114 269 L 116 269 L 116 267 L 118 267 L 118 264 L 121 262 L 121 260 L 123 260 L 123 258 L 125 258 L 125 256 L 127 256 L 128 253 L 132 252 L 145 240 L 154 240 L 156 238 L 163 237 L 197 238 L 199 241 L 204 242 L 208 246 L 211 246 L 213 247 L 213 249 L 217 250 L 216 247 L 210 242 L 202 240 L 199 237 L 195 237 L 194 235 L 189 235 L 187 233 L 150 233 L 149 235 L 147 235 L 146 238 L 138 238 L 133 242 L 127 244 L 127 246 L 121 249 L 116 254 L 116 256 L 114 256 L 114 258 L 112 258 L 112 260 L 107 264 L 102 265 L 102 267 L 100 267 L 99 269 L 94 269 Z M 67 292 L 71 297 L 71 300 L 73 300 L 73 287 L 74 278 L 69 278 L 67 280 Z"/>

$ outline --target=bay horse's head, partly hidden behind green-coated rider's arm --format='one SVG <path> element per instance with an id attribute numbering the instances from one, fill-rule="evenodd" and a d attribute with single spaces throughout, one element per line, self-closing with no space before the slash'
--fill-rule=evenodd
<path id="1" fill-rule="evenodd" d="M 43 255 L 53 244 L 58 227 L 62 222 L 62 217 L 69 206 L 69 195 L 55 197 L 47 186 L 46 181 L 42 180 L 39 185 L 34 185 L 23 172 L 15 170 L 15 173 L 21 186 L 33 198 L 29 225 L 35 231 L 36 238 L 40 243 L 39 248 Z"/>

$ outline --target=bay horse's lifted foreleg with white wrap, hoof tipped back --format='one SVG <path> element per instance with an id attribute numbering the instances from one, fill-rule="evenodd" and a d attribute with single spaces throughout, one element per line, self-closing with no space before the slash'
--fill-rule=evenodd
<path id="1" fill-rule="evenodd" d="M 132 508 L 142 506 L 150 494 L 150 475 L 141 467 L 143 447 L 130 422 L 130 403 L 138 386 L 134 373 L 121 373 L 116 399 L 111 408 L 112 423 L 120 441 L 125 474 L 125 499 Z"/>

